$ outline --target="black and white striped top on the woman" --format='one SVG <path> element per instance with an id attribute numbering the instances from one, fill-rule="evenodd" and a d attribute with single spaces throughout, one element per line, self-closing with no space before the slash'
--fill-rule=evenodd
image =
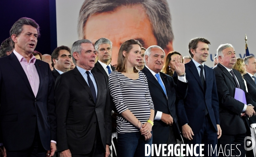
<path id="1" fill-rule="evenodd" d="M 154 109 L 147 77 L 141 71 L 138 74 L 137 80 L 132 80 L 118 71 L 113 71 L 109 75 L 109 90 L 118 111 L 118 133 L 139 131 L 122 117 L 123 111 L 129 109 L 141 123 L 146 123 L 150 117 L 150 109 Z"/>

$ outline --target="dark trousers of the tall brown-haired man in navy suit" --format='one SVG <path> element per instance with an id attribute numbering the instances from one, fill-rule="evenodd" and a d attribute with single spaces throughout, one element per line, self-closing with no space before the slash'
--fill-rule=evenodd
<path id="1" fill-rule="evenodd" d="M 195 144 L 204 144 L 204 147 L 203 147 L 204 157 L 217 157 L 218 155 L 218 151 L 216 151 L 217 150 L 217 132 L 215 131 L 214 126 L 212 125 L 209 114 L 205 116 L 203 120 L 203 126 L 200 129 L 200 131 L 197 134 L 194 134 L 192 138 L 193 140 L 186 140 L 184 138 L 184 143 L 189 144 L 189 146 L 191 146 L 190 144 L 193 144 L 193 146 L 195 146 Z M 215 153 L 213 153 L 213 151 L 211 152 L 211 146 L 213 150 L 216 148 Z M 200 153 L 199 146 L 196 147 L 196 153 L 198 155 Z M 189 153 L 188 153 L 188 156 L 190 156 Z M 192 156 L 194 156 L 194 151 Z"/>

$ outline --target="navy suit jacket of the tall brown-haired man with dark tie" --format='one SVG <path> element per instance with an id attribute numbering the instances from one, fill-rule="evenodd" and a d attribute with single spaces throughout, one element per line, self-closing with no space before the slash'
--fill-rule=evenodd
<path id="1" fill-rule="evenodd" d="M 180 126 L 188 125 L 194 134 L 197 134 L 203 126 L 206 106 L 212 125 L 217 132 L 219 121 L 219 102 L 214 71 L 204 65 L 205 91 L 200 80 L 197 67 L 194 62 L 185 64 L 186 79 L 188 80 L 188 94 L 184 100 L 177 103 L 177 115 Z M 177 73 L 174 72 L 174 81 L 177 81 Z"/>

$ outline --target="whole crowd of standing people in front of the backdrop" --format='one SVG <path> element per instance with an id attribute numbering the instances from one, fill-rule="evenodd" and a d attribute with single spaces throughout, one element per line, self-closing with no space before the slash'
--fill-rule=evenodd
<path id="1" fill-rule="evenodd" d="M 244 138 L 256 123 L 254 56 L 236 58 L 231 44 L 221 44 L 212 69 L 204 64 L 211 44 L 205 38 L 190 40 L 191 57 L 165 56 L 160 46 L 145 49 L 130 39 L 114 67 L 107 38 L 42 55 L 35 51 L 39 36 L 38 24 L 23 17 L 0 46 L 2 156 L 109 157 L 112 132 L 118 157 L 142 157 L 145 144 L 182 138 L 204 150 L 227 145 L 219 156 L 253 156 Z M 237 88 L 245 102 L 235 98 Z"/>

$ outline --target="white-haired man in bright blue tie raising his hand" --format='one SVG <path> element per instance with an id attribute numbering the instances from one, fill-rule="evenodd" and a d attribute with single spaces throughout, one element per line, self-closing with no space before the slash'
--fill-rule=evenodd
<path id="1" fill-rule="evenodd" d="M 175 70 L 178 75 L 184 75 L 179 78 L 177 85 L 172 77 L 160 72 L 165 58 L 165 51 L 161 47 L 150 46 L 145 51 L 144 58 L 146 66 L 141 71 L 147 76 L 148 87 L 155 108 L 153 144 L 177 144 L 176 139 L 181 140 L 181 136 L 175 100 L 176 97 L 184 99 L 188 87 L 188 83 L 185 83 L 185 66 L 182 63 L 182 57 L 178 56 L 175 62 Z"/>

